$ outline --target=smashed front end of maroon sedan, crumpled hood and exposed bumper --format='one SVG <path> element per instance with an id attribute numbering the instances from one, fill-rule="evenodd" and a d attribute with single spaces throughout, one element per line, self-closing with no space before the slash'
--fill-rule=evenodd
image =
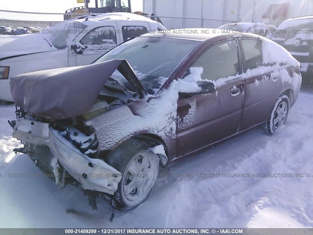
<path id="1" fill-rule="evenodd" d="M 133 85 L 133 91 L 112 79 L 115 70 Z M 96 209 L 95 196 L 114 195 L 122 174 L 104 161 L 105 153 L 97 151 L 95 130 L 86 122 L 143 97 L 146 93 L 136 79 L 125 60 L 11 79 L 12 95 L 21 109 L 9 124 L 13 137 L 24 144 L 14 151 L 27 154 L 60 188 L 67 184 L 83 188 Z"/>

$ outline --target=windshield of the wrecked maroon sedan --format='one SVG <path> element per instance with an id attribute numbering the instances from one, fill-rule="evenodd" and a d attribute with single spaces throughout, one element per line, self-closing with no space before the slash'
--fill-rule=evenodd
<path id="1" fill-rule="evenodd" d="M 149 94 L 156 94 L 179 63 L 199 44 L 199 41 L 185 39 L 138 37 L 115 47 L 95 63 L 112 59 L 127 60 L 145 90 Z M 116 73 L 112 77 L 126 87 L 129 85 L 126 80 L 121 81 Z"/>

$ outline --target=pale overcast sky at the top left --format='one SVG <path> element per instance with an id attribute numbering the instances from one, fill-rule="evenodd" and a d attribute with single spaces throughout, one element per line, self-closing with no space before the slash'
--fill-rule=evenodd
<path id="1" fill-rule="evenodd" d="M 77 0 L 0 0 L 0 10 L 64 13 L 74 6 L 84 5 L 76 3 Z M 99 0 L 100 2 L 100 0 Z M 131 0 L 132 11 L 142 11 L 142 0 Z M 89 6 L 94 7 L 94 0 Z"/>

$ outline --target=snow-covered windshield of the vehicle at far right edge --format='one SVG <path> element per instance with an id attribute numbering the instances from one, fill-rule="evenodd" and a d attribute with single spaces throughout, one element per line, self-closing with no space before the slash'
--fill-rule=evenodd
<path id="1" fill-rule="evenodd" d="M 278 26 L 276 34 L 273 34 L 272 40 L 286 41 L 292 38 L 312 38 L 313 19 L 301 19 L 285 21 Z"/>

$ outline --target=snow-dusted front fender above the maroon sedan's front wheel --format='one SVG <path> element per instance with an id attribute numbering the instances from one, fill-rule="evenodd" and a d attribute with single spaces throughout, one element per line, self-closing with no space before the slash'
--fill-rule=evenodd
<path id="1" fill-rule="evenodd" d="M 128 106 L 121 106 L 86 121 L 86 124 L 95 130 L 99 141 L 97 151 L 113 150 L 124 141 L 150 134 L 162 140 L 168 149 L 168 157 L 172 156 L 176 140 L 175 119 L 172 123 L 156 120 L 134 115 Z"/>

